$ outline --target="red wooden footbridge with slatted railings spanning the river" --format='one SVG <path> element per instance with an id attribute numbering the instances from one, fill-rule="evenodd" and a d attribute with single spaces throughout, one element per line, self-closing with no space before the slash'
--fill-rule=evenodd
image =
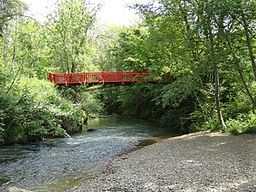
<path id="1" fill-rule="evenodd" d="M 75 84 L 133 84 L 137 82 L 155 83 L 145 72 L 84 72 L 49 73 L 49 81 L 59 85 Z"/>

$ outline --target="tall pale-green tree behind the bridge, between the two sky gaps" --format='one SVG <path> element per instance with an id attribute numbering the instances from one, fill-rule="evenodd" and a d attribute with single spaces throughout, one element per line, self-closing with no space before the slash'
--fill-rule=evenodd
<path id="1" fill-rule="evenodd" d="M 75 73 L 86 68 L 90 57 L 90 33 L 99 6 L 85 0 L 58 1 L 57 9 L 47 23 L 53 66 L 59 71 Z M 85 62 L 85 64 L 84 64 Z"/>

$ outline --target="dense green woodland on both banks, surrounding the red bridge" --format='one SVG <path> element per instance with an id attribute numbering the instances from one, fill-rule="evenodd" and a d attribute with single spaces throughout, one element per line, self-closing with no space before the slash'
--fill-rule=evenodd
<path id="1" fill-rule="evenodd" d="M 0 143 L 69 137 L 88 117 L 132 115 L 182 133 L 256 131 L 256 3 L 158 0 L 142 21 L 100 26 L 101 5 L 59 0 L 47 20 L 0 2 Z M 145 71 L 158 84 L 86 91 L 48 73 Z"/>

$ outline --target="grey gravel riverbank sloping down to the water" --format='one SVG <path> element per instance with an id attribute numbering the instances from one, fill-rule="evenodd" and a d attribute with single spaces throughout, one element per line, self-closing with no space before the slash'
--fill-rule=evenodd
<path id="1" fill-rule="evenodd" d="M 200 132 L 123 154 L 70 191 L 256 191 L 256 135 Z"/>

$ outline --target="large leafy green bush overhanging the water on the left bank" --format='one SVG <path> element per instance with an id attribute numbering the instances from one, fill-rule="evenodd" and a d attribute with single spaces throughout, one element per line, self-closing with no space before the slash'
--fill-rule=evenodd
<path id="1" fill-rule="evenodd" d="M 26 143 L 49 137 L 68 137 L 80 131 L 86 115 L 45 80 L 21 78 L 9 94 L 0 90 L 0 140 Z M 3 142 L 2 142 L 3 143 Z"/>

